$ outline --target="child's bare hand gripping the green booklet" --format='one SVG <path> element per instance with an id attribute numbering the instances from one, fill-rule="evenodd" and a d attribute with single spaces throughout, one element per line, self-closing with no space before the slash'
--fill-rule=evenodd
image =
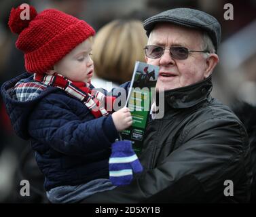
<path id="1" fill-rule="evenodd" d="M 115 128 L 118 132 L 125 130 L 132 125 L 132 115 L 127 107 L 124 107 L 112 114 Z"/>

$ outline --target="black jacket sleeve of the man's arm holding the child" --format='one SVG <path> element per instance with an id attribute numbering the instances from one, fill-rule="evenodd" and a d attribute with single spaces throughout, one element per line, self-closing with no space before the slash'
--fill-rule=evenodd
<path id="1" fill-rule="evenodd" d="M 208 120 L 189 127 L 175 151 L 130 185 L 96 193 L 84 202 L 193 203 L 205 202 L 206 197 L 207 201 L 219 202 L 223 182 L 234 180 L 234 186 L 240 184 L 236 177 L 249 176 L 245 170 L 248 164 L 249 144 L 242 126 L 225 119 Z M 249 192 L 248 186 L 244 185 L 244 192 Z M 236 196 L 240 193 L 234 192 Z"/>

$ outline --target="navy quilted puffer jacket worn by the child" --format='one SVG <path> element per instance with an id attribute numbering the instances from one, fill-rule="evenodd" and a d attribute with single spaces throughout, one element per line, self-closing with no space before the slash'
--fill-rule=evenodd
<path id="1" fill-rule="evenodd" d="M 108 178 L 110 146 L 117 138 L 111 115 L 95 119 L 84 104 L 56 87 L 20 102 L 13 92 L 21 79 L 31 82 L 33 76 L 24 73 L 5 82 L 1 94 L 16 134 L 31 140 L 45 190 Z"/>

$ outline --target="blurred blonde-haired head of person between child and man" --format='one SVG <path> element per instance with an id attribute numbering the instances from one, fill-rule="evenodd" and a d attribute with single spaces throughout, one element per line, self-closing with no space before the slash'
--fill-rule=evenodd
<path id="1" fill-rule="evenodd" d="M 113 82 L 112 87 L 130 81 L 135 62 L 145 62 L 146 44 L 147 36 L 140 20 L 113 20 L 100 28 L 92 47 L 94 87 L 111 90 L 107 81 Z"/>

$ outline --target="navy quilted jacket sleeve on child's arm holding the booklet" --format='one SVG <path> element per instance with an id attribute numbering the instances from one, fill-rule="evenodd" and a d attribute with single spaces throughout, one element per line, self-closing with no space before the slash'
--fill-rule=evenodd
<path id="1" fill-rule="evenodd" d="M 87 108 L 81 109 L 81 102 L 60 94 L 37 104 L 30 115 L 29 134 L 66 155 L 108 149 L 117 138 L 111 115 L 93 119 Z"/>

